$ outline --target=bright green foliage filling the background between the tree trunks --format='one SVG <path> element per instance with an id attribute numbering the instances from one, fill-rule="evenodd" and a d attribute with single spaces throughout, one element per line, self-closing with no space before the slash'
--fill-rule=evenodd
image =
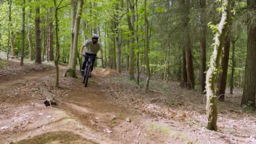
<path id="1" fill-rule="evenodd" d="M 61 0 L 57 0 L 60 3 Z M 62 61 L 68 61 L 69 49 L 71 45 L 71 5 L 70 0 L 63 0 L 60 4 L 60 10 L 58 11 L 59 17 L 59 41 L 60 41 L 60 59 Z M 192 1 L 191 1 L 192 2 Z M 7 51 L 8 30 L 16 35 L 16 49 L 20 56 L 21 49 L 21 8 L 22 1 L 13 1 L 11 5 L 11 22 L 8 22 L 8 2 L 1 3 L 0 8 L 0 51 Z M 216 1 L 207 1 L 206 5 L 206 22 L 208 23 L 207 47 L 211 47 L 212 38 L 214 36 L 212 32 L 216 33 L 219 22 L 219 12 L 222 12 L 220 8 L 222 3 L 216 3 Z M 136 30 L 135 35 L 131 35 L 127 25 L 126 16 L 126 1 L 123 3 L 120 0 L 88 0 L 84 1 L 84 8 L 82 14 L 82 20 L 80 22 L 80 32 L 78 47 L 82 46 L 85 39 L 91 37 L 92 33 L 101 34 L 101 43 L 103 50 L 106 51 L 107 64 L 109 64 L 109 58 L 114 57 L 113 47 L 117 47 L 113 38 L 117 38 L 119 35 L 122 39 L 121 45 L 121 60 L 122 64 L 126 63 L 126 57 L 129 56 L 130 46 L 135 46 L 135 52 L 139 52 L 139 66 L 144 69 L 144 34 L 145 34 L 145 22 L 144 22 L 144 1 L 137 1 L 135 4 L 135 13 L 128 13 L 130 16 L 135 16 L 134 28 Z M 49 8 L 53 7 L 53 1 L 26 1 L 25 5 L 25 20 L 26 31 L 28 26 L 31 26 L 32 35 L 32 47 L 34 49 L 34 17 L 35 8 L 40 7 L 40 21 L 41 27 L 46 28 L 50 22 L 54 22 L 54 11 L 49 13 Z M 195 67 L 195 75 L 199 75 L 200 65 L 200 15 L 198 3 L 190 5 L 189 14 L 189 32 L 191 34 L 190 42 L 193 48 L 193 61 Z M 247 10 L 243 10 L 247 7 L 246 1 L 235 1 L 235 7 L 232 8 L 232 20 L 234 23 L 231 27 L 232 38 L 236 38 L 240 35 L 240 38 L 236 41 L 235 50 L 235 76 L 237 79 L 242 77 L 242 73 L 245 67 L 246 61 L 246 44 L 247 44 L 247 23 L 248 18 L 254 19 L 254 13 L 249 13 Z M 213 9 L 213 10 L 212 10 Z M 218 9 L 218 11 L 214 10 Z M 32 11 L 30 23 L 28 23 L 28 12 Z M 149 40 L 149 62 L 153 75 L 162 75 L 166 68 L 171 74 L 172 79 L 180 79 L 182 73 L 182 54 L 183 54 L 183 18 L 181 16 L 185 8 L 181 7 L 179 1 L 148 1 L 147 4 L 147 16 L 149 19 L 150 40 Z M 186 9 L 187 10 L 187 9 Z M 241 11 L 242 10 L 242 11 Z M 44 19 L 43 19 L 44 17 Z M 210 22 L 211 21 L 211 22 Z M 44 24 L 43 24 L 44 22 Z M 10 28 L 8 27 L 10 24 Z M 42 30 L 42 29 L 41 29 Z M 42 31 L 41 31 L 42 32 Z M 105 36 L 106 32 L 106 36 Z M 46 36 L 45 36 L 46 38 Z M 130 44 L 130 39 L 136 38 L 136 43 Z M 138 38 L 138 41 L 137 41 Z M 43 39 L 43 38 L 41 38 Z M 106 43 L 106 44 L 105 44 Z M 55 41 L 54 41 L 55 45 Z M 11 51 L 10 51 L 11 53 Z M 28 56 L 28 40 L 25 39 L 25 55 Z M 207 48 L 207 65 L 210 63 L 210 56 L 212 50 Z M 117 50 L 115 53 L 117 57 Z M 133 57 L 136 59 L 136 56 Z M 231 59 L 231 56 L 230 56 Z M 105 59 L 104 59 L 105 61 Z M 231 63 L 230 63 L 231 64 Z M 229 64 L 229 65 L 230 65 Z M 142 73 L 145 71 L 142 71 Z M 215 74 L 219 73 L 219 70 L 214 71 Z M 228 75 L 230 70 L 228 71 Z M 198 76 L 196 76 L 198 77 Z M 198 79 L 197 79 L 198 80 Z M 143 81 L 141 82 L 143 83 Z M 239 83 L 239 82 L 236 82 Z M 165 88 L 164 88 L 165 89 Z"/>

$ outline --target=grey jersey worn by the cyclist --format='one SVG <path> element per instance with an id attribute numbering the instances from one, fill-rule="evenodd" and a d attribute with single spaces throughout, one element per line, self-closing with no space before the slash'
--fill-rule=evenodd
<path id="1" fill-rule="evenodd" d="M 84 41 L 85 51 L 91 54 L 97 54 L 99 50 L 102 49 L 101 41 L 98 40 L 97 44 L 92 44 L 92 39 Z"/>

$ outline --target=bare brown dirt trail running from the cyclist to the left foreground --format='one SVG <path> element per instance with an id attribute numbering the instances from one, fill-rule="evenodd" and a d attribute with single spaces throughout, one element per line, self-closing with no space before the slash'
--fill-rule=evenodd
<path id="1" fill-rule="evenodd" d="M 18 83 L 14 87 L 20 89 L 22 81 L 41 81 L 54 73 L 54 69 L 38 71 L 2 81 L 0 87 L 4 89 Z M 150 128 L 152 117 L 108 103 L 113 92 L 100 88 L 100 77 L 93 76 L 87 88 L 81 80 L 75 79 L 72 89 L 60 89 L 63 95 L 57 99 L 62 109 L 45 107 L 43 100 L 35 100 L 26 93 L 20 94 L 18 99 L 3 98 L 10 103 L 0 106 L 3 110 L 0 111 L 3 113 L 0 127 L 6 128 L 0 131 L 0 143 L 158 143 L 162 139 L 157 136 L 148 139 L 148 129 L 141 128 L 146 124 Z M 126 122 L 127 118 L 131 122 Z"/>

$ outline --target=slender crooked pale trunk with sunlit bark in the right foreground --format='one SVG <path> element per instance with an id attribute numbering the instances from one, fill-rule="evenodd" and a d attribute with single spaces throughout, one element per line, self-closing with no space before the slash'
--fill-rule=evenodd
<path id="1" fill-rule="evenodd" d="M 211 57 L 210 68 L 206 73 L 206 111 L 208 124 L 207 129 L 217 131 L 217 103 L 215 94 L 216 73 L 219 70 L 219 61 L 222 55 L 222 46 L 225 38 L 226 27 L 228 25 L 228 17 L 230 17 L 230 1 L 224 0 L 222 3 L 222 19 L 220 20 L 218 31 L 215 37 L 213 55 Z"/>

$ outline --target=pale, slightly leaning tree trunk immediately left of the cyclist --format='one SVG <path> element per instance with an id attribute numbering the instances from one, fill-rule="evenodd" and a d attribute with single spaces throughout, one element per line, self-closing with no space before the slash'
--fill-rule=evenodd
<path id="1" fill-rule="evenodd" d="M 79 34 L 79 26 L 80 26 L 80 19 L 81 19 L 81 14 L 83 10 L 83 4 L 84 1 L 79 1 L 78 6 L 77 6 L 77 13 L 75 14 L 75 20 L 74 20 L 74 27 L 72 26 L 72 38 L 71 38 L 71 53 L 69 56 L 69 64 L 68 64 L 68 70 L 67 72 L 70 77 L 77 77 L 76 71 L 75 71 L 75 66 L 77 64 L 77 43 L 78 43 L 78 34 Z M 73 7 L 75 5 L 72 5 L 72 11 Z M 74 11 L 72 12 L 74 13 Z M 72 14 L 73 16 L 73 14 Z M 73 19 L 72 19 L 73 23 Z"/>

